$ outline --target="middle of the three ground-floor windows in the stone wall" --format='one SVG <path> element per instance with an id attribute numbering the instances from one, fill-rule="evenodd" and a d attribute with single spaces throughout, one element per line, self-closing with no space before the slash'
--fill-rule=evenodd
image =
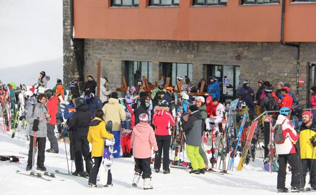
<path id="1" fill-rule="evenodd" d="M 176 85 L 177 76 L 188 76 L 192 81 L 193 66 L 187 63 L 163 63 L 163 76 L 170 77 L 170 85 Z"/>

